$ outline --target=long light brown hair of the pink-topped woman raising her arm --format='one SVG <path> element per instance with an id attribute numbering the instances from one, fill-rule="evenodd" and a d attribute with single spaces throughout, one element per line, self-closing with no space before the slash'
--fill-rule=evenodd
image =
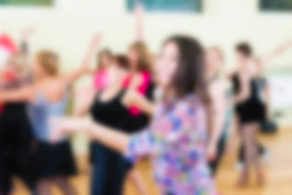
<path id="1" fill-rule="evenodd" d="M 136 41 L 132 43 L 129 48 L 136 50 L 139 55 L 137 70 L 151 71 L 152 58 L 146 43 L 143 41 Z"/>

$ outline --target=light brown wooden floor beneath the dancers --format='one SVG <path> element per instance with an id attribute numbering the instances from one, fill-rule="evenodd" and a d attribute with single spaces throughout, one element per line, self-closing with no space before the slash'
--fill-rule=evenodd
<path id="1" fill-rule="evenodd" d="M 271 161 L 267 167 L 267 181 L 258 187 L 254 179 L 248 187 L 235 187 L 238 172 L 234 168 L 235 156 L 226 155 L 220 166 L 216 184 L 221 195 L 292 195 L 292 128 L 282 128 L 273 136 L 260 136 L 260 140 L 271 152 Z M 79 195 L 89 194 L 89 168 L 85 157 L 79 157 L 79 176 L 72 178 L 72 183 Z M 157 189 L 152 181 L 151 166 L 148 161 L 137 165 L 136 169 L 144 176 L 149 195 L 157 195 Z M 20 182 L 16 181 L 15 195 L 28 195 Z M 135 189 L 126 182 L 126 195 L 136 195 Z M 54 189 L 54 195 L 60 195 Z"/>

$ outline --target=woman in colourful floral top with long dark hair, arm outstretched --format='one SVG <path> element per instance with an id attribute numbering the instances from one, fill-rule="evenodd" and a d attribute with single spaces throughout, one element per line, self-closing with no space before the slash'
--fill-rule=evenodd
<path id="1" fill-rule="evenodd" d="M 164 98 L 157 107 L 129 91 L 123 99 L 153 115 L 151 125 L 126 135 L 86 119 L 56 118 L 63 134 L 83 129 L 91 138 L 120 151 L 132 162 L 150 155 L 155 181 L 163 195 L 216 195 L 205 156 L 208 123 L 204 53 L 199 42 L 185 36 L 167 39 L 157 61 Z"/>

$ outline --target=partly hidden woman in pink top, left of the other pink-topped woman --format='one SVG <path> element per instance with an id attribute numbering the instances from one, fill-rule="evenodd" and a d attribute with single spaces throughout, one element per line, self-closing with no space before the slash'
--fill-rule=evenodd
<path id="1" fill-rule="evenodd" d="M 97 71 L 93 78 L 94 89 L 100 90 L 107 86 L 107 69 L 112 63 L 112 53 L 109 49 L 102 49 L 98 53 Z"/>

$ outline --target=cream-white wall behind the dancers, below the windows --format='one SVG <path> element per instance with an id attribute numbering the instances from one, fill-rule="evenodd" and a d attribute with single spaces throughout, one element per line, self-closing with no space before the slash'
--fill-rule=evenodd
<path id="1" fill-rule="evenodd" d="M 194 35 L 205 46 L 218 44 L 226 52 L 228 66 L 234 64 L 237 41 L 249 40 L 262 54 L 287 39 L 292 39 L 292 13 L 260 13 L 257 0 L 204 0 L 202 14 L 146 14 L 145 37 L 153 52 L 169 35 Z M 37 32 L 30 39 L 35 52 L 52 48 L 62 57 L 63 68 L 70 70 L 81 61 L 91 35 L 103 34 L 103 45 L 123 52 L 135 39 L 134 17 L 127 13 L 125 0 L 57 0 L 55 8 L 0 8 L 0 31 L 16 39 L 30 25 Z M 292 50 L 275 64 L 291 62 Z M 79 85 L 88 85 L 89 78 Z M 84 147 L 77 147 L 84 151 Z"/>

